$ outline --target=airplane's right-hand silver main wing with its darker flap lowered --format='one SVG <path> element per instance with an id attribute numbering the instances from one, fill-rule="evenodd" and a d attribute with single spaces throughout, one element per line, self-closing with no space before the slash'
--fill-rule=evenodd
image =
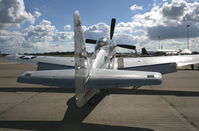
<path id="1" fill-rule="evenodd" d="M 123 70 L 155 71 L 162 74 L 176 71 L 176 66 L 199 63 L 199 55 L 118 58 L 118 68 Z"/>

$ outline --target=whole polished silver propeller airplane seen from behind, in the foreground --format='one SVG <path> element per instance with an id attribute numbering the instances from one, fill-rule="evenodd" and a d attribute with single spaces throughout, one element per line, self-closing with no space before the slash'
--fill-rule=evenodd
<path id="1" fill-rule="evenodd" d="M 159 85 L 162 74 L 176 72 L 177 66 L 199 63 L 199 55 L 117 58 L 116 47 L 135 49 L 113 40 L 116 19 L 111 20 L 110 36 L 85 39 L 79 11 L 74 12 L 74 57 L 8 55 L 6 59 L 37 64 L 37 71 L 21 74 L 17 81 L 63 88 L 75 88 L 77 107 L 108 88 Z M 86 43 L 96 44 L 89 58 Z M 31 59 L 24 59 L 31 58 Z"/>

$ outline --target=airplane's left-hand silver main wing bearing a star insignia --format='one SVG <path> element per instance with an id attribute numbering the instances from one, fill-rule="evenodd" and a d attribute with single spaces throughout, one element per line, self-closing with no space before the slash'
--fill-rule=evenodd
<path id="1" fill-rule="evenodd" d="M 10 61 L 18 61 L 25 64 L 47 63 L 74 67 L 74 57 L 7 55 L 5 58 Z"/>

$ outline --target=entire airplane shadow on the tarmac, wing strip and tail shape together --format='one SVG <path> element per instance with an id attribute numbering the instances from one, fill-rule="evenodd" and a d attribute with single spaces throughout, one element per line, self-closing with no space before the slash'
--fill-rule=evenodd
<path id="1" fill-rule="evenodd" d="M 74 89 L 65 88 L 0 88 L 0 92 L 50 92 L 50 93 L 74 93 Z M 108 89 L 104 96 L 101 96 L 98 103 L 109 94 L 131 94 L 131 95 L 174 95 L 185 97 L 199 97 L 197 91 L 173 91 L 173 90 L 133 90 L 133 89 Z M 40 131 L 152 131 L 149 128 L 123 127 L 116 125 L 102 125 L 83 123 L 83 120 L 95 108 L 95 106 L 85 105 L 77 108 L 75 97 L 67 101 L 68 108 L 62 121 L 0 121 L 0 128 L 40 130 Z"/>

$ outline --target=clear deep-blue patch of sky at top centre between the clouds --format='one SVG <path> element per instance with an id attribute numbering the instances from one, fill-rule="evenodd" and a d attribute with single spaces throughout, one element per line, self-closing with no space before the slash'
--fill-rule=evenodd
<path id="1" fill-rule="evenodd" d="M 151 0 L 24 0 L 27 12 L 33 13 L 39 10 L 42 13 L 40 19 L 51 21 L 59 30 L 63 30 L 64 25 L 73 24 L 73 11 L 79 10 L 83 24 L 90 26 L 98 22 L 110 23 L 112 17 L 117 18 L 117 22 L 128 22 L 136 13 L 143 13 L 152 7 Z M 143 6 L 144 10 L 131 11 L 134 4 Z"/>

